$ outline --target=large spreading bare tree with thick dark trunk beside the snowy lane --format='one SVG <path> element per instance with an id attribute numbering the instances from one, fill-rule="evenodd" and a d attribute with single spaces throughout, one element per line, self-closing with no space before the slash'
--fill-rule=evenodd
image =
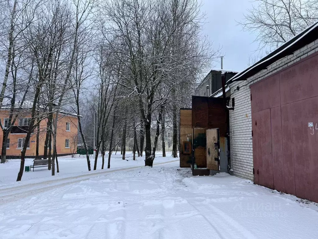
<path id="1" fill-rule="evenodd" d="M 136 97 L 145 132 L 145 165 L 152 166 L 160 133 L 160 130 L 156 133 L 154 148 L 151 148 L 154 112 L 166 104 L 171 94 L 177 93 L 175 88 L 180 83 L 186 81 L 185 75 L 177 76 L 177 73 L 191 67 L 198 72 L 198 63 L 202 68 L 213 56 L 211 45 L 204 42 L 200 34 L 204 16 L 200 5 L 193 0 L 111 0 L 103 6 L 103 14 L 110 21 L 110 34 L 121 42 L 120 47 L 112 45 L 120 64 L 129 71 L 120 84 L 127 89 L 128 95 Z M 175 84 L 172 87 L 171 81 Z M 165 94 L 159 93 L 167 87 L 170 90 Z M 157 118 L 159 125 L 161 118 Z M 142 137 L 143 132 L 141 152 Z"/>

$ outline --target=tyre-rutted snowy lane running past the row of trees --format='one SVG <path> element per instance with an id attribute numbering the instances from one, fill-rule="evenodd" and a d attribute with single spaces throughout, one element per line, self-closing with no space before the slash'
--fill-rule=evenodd
<path id="1" fill-rule="evenodd" d="M 179 160 L 172 160 L 172 161 L 167 161 L 162 163 L 154 163 L 153 165 L 155 166 L 160 164 L 173 163 L 177 161 Z M 10 188 L 4 188 L 4 189 L 0 188 L 1 190 L 0 202 L 1 204 L 10 203 L 12 201 L 34 196 L 35 194 L 39 194 L 41 192 L 46 192 L 46 191 L 60 188 L 66 185 L 89 180 L 90 178 L 93 178 L 93 177 L 98 177 L 98 176 L 106 175 L 108 173 L 113 173 L 117 171 L 132 170 L 132 169 L 137 169 L 142 167 L 145 167 L 145 166 L 140 165 L 140 166 L 133 166 L 128 168 L 114 169 L 114 170 L 101 171 L 101 172 L 95 172 L 95 173 L 86 173 L 84 175 L 77 175 L 73 177 L 63 177 L 60 179 L 48 180 L 48 181 L 44 181 L 40 183 L 31 183 L 31 184 L 19 185 L 19 186 L 10 187 Z"/>

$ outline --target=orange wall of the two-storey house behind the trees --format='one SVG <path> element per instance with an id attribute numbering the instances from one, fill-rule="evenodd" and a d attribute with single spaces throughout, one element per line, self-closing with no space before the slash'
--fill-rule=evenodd
<path id="1" fill-rule="evenodd" d="M 24 114 L 21 118 L 31 117 L 29 114 Z M 4 118 L 9 118 L 9 112 L 2 110 L 0 112 L 1 123 L 4 123 Z M 17 119 L 14 125 L 18 125 L 19 120 Z M 70 131 L 66 131 L 66 122 L 70 122 Z M 47 120 L 44 119 L 40 123 L 40 136 L 39 136 L 39 155 L 43 155 L 44 153 L 44 141 L 46 135 L 46 124 Z M 26 150 L 26 155 L 34 155 L 36 154 L 36 130 L 31 134 L 30 138 L 30 148 Z M 56 150 L 58 154 L 69 154 L 77 149 L 77 117 L 74 116 L 66 116 L 59 115 L 58 120 L 58 129 L 57 129 L 57 137 L 56 137 Z M 26 134 L 9 134 L 10 139 L 10 148 L 7 148 L 7 155 L 20 155 L 21 148 L 17 148 L 17 142 L 19 138 L 24 138 Z M 65 148 L 65 140 L 70 140 L 70 148 Z M 3 131 L 0 130 L 0 150 L 2 148 L 2 140 L 3 140 Z M 53 145 L 53 144 L 52 144 Z"/>

